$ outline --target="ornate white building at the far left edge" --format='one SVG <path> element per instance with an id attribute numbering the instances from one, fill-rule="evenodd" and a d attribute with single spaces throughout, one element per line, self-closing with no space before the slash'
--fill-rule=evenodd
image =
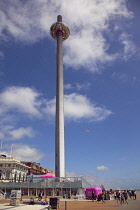
<path id="1" fill-rule="evenodd" d="M 0 155 L 0 182 L 24 182 L 28 168 L 20 160 Z"/>

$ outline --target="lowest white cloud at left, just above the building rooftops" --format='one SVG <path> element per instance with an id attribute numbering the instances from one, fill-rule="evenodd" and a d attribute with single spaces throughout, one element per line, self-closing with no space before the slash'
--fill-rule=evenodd
<path id="1" fill-rule="evenodd" d="M 6 147 L 6 145 L 5 145 Z M 11 150 L 11 148 L 12 150 Z M 33 146 L 28 146 L 26 144 L 13 144 L 12 146 L 8 146 L 10 149 L 4 152 L 7 156 L 11 155 L 14 158 L 17 158 L 21 161 L 34 161 L 39 162 L 43 157 L 44 154 L 41 153 L 39 150 L 34 148 Z M 12 154 L 10 154 L 12 152 Z"/>

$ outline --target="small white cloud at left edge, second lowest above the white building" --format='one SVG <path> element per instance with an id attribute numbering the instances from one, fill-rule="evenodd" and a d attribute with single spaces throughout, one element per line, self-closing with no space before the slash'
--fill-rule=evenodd
<path id="1" fill-rule="evenodd" d="M 0 139 L 1 140 L 19 140 L 24 137 L 34 137 L 34 131 L 31 127 L 14 128 L 14 126 L 1 126 Z"/>

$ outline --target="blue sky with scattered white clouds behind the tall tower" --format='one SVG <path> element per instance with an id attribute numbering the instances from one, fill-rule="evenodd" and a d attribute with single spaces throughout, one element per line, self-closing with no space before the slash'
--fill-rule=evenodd
<path id="1" fill-rule="evenodd" d="M 55 168 L 56 41 L 62 15 L 67 176 L 140 188 L 140 1 L 0 1 L 1 153 Z"/>

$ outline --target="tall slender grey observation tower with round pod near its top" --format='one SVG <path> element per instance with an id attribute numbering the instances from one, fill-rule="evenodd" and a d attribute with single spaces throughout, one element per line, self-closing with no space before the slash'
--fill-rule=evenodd
<path id="1" fill-rule="evenodd" d="M 62 23 L 61 15 L 58 15 L 57 22 L 52 24 L 50 34 L 57 41 L 55 175 L 65 177 L 63 41 L 69 37 L 70 31 L 68 26 Z"/>

